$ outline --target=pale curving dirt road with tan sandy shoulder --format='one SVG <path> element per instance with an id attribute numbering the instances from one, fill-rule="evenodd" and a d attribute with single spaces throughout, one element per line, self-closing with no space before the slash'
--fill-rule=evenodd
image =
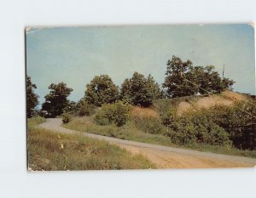
<path id="1" fill-rule="evenodd" d="M 196 150 L 177 149 L 157 144 L 114 139 L 92 133 L 81 133 L 61 127 L 61 118 L 49 118 L 39 125 L 56 133 L 75 133 L 93 139 L 102 139 L 109 144 L 117 144 L 133 154 L 142 154 L 154 162 L 158 168 L 200 168 L 200 167 L 253 167 L 256 159 L 238 156 L 225 156 Z"/>

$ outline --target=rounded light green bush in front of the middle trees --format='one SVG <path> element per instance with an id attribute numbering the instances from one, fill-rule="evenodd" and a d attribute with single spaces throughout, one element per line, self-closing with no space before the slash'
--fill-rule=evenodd
<path id="1" fill-rule="evenodd" d="M 115 124 L 117 127 L 123 126 L 128 118 L 131 105 L 127 105 L 121 101 L 115 104 L 106 104 L 96 113 L 96 123 L 100 125 Z"/>

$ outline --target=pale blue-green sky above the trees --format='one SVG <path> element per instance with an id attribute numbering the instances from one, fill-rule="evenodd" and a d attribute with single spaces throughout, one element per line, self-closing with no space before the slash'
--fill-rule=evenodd
<path id="1" fill-rule="evenodd" d="M 65 82 L 78 101 L 94 76 L 118 86 L 134 71 L 165 80 L 172 55 L 193 65 L 214 65 L 233 79 L 234 91 L 255 94 L 254 29 L 251 25 L 131 25 L 26 29 L 26 73 L 39 102 L 49 84 Z"/>

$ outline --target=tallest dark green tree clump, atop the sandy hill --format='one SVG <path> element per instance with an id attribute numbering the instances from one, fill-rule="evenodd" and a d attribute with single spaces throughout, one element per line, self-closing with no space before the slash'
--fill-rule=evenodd
<path id="1" fill-rule="evenodd" d="M 214 66 L 193 66 L 190 60 L 172 56 L 167 61 L 166 88 L 168 98 L 189 96 L 196 93 L 220 93 L 224 88 L 231 88 L 235 82 L 229 78 L 221 79 Z"/>

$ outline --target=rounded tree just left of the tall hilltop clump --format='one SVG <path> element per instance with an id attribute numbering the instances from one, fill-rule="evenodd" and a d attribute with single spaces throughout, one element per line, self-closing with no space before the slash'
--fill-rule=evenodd
<path id="1" fill-rule="evenodd" d="M 134 72 L 131 79 L 125 79 L 121 86 L 121 98 L 132 105 L 149 106 L 162 95 L 153 76 L 146 78 L 138 72 Z"/>

